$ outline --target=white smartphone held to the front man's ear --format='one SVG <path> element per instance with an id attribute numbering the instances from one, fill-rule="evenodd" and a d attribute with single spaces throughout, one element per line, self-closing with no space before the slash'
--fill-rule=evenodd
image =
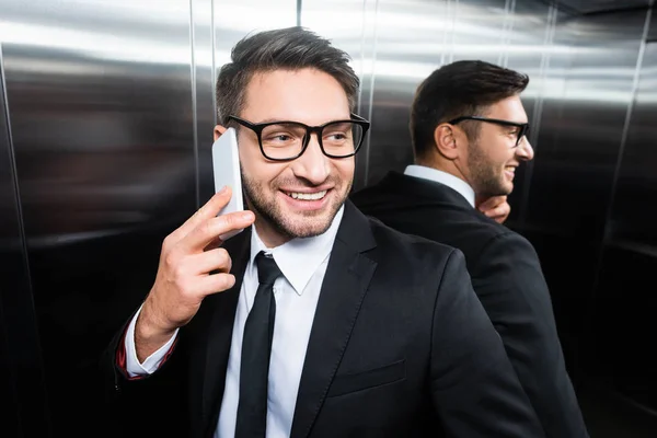
<path id="1" fill-rule="evenodd" d="M 238 151 L 238 136 L 234 128 L 228 128 L 212 145 L 212 169 L 215 175 L 215 193 L 224 186 L 230 186 L 232 196 L 219 215 L 241 211 L 244 209 L 242 198 L 242 174 L 240 172 L 240 152 Z M 221 240 L 228 240 L 240 233 L 234 230 L 220 235 Z"/>

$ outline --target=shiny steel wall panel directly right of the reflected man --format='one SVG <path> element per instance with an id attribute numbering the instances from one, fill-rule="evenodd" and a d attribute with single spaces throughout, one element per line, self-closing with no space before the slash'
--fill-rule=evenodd
<path id="1" fill-rule="evenodd" d="M 645 11 L 557 16 L 520 231 L 541 257 L 570 367 L 586 361 L 584 332 L 595 307 L 600 245 L 645 16 Z"/>

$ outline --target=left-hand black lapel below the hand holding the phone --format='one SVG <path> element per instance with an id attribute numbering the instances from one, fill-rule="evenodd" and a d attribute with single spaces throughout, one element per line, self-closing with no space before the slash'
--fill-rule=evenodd
<path id="1" fill-rule="evenodd" d="M 210 320 L 204 324 L 204 327 L 207 327 L 205 357 L 199 358 L 199 362 L 205 364 L 200 370 L 200 376 L 203 376 L 203 405 L 200 406 L 203 436 L 211 436 L 211 431 L 217 425 L 226 384 L 235 310 L 244 270 L 249 263 L 250 242 L 251 229 L 244 230 L 239 237 L 226 242 L 224 247 L 232 258 L 231 273 L 235 276 L 235 284 L 229 290 L 206 298 L 206 301 L 210 301 L 207 303 L 209 304 L 207 315 Z"/>

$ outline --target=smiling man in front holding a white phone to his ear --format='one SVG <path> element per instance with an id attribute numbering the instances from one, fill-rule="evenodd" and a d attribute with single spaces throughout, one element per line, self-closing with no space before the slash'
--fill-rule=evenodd
<path id="1" fill-rule="evenodd" d="M 164 240 L 103 359 L 127 435 L 543 437 L 462 253 L 347 200 L 358 87 L 300 27 L 233 48 L 215 138 L 238 130 L 250 211 L 217 216 L 224 189 Z"/>

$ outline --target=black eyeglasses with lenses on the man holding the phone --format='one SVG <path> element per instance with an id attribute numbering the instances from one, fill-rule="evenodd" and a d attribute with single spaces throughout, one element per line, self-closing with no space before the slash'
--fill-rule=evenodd
<path id="1" fill-rule="evenodd" d="M 320 149 L 326 157 L 355 155 L 370 127 L 368 120 L 356 114 L 351 114 L 348 120 L 333 120 L 321 126 L 288 120 L 254 124 L 240 117 L 228 116 L 227 122 L 230 120 L 253 130 L 257 136 L 261 152 L 272 161 L 291 161 L 301 157 L 313 132 L 318 135 Z"/>

